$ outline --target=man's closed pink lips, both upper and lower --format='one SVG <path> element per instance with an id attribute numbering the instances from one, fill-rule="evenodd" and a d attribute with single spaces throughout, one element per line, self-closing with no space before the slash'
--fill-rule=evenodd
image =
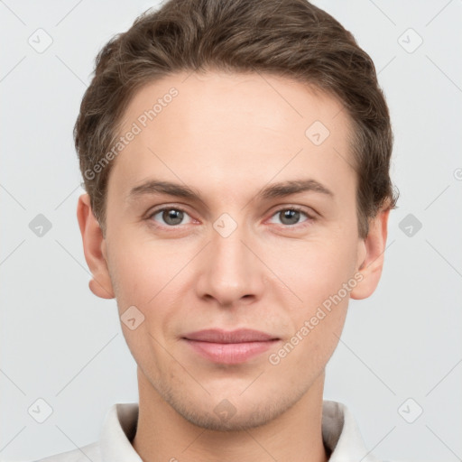
<path id="1" fill-rule="evenodd" d="M 205 329 L 182 337 L 200 356 L 220 364 L 239 364 L 261 355 L 280 338 L 253 329 Z"/>

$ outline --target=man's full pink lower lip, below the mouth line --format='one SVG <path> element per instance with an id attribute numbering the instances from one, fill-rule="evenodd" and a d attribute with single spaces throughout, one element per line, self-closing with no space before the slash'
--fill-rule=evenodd
<path id="1" fill-rule="evenodd" d="M 248 359 L 261 355 L 273 347 L 278 340 L 245 343 L 212 343 L 185 338 L 191 348 L 200 356 L 214 362 L 226 365 L 245 363 Z"/>

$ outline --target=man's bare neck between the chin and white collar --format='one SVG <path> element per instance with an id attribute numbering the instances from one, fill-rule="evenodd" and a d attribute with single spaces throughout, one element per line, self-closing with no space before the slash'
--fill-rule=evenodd
<path id="1" fill-rule="evenodd" d="M 139 415 L 132 445 L 149 462 L 326 462 L 322 441 L 324 374 L 288 411 L 249 430 L 217 431 L 185 420 L 138 368 Z"/>

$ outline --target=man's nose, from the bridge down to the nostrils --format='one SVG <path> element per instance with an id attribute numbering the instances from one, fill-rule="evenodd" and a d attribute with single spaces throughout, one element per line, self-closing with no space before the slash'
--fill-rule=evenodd
<path id="1" fill-rule="evenodd" d="M 258 246 L 237 226 L 231 235 L 211 231 L 211 242 L 199 263 L 196 288 L 202 300 L 216 300 L 230 308 L 258 300 L 264 289 L 264 264 L 259 260 Z"/>

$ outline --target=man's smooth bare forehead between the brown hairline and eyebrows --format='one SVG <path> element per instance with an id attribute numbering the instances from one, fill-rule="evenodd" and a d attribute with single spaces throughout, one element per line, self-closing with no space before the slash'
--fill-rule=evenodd
<path id="1" fill-rule="evenodd" d="M 234 195 L 243 185 L 312 172 L 329 189 L 345 189 L 342 181 L 355 179 L 342 109 L 337 98 L 276 76 L 171 75 L 127 106 L 120 134 L 136 134 L 109 182 L 125 198 L 150 176 Z"/>

